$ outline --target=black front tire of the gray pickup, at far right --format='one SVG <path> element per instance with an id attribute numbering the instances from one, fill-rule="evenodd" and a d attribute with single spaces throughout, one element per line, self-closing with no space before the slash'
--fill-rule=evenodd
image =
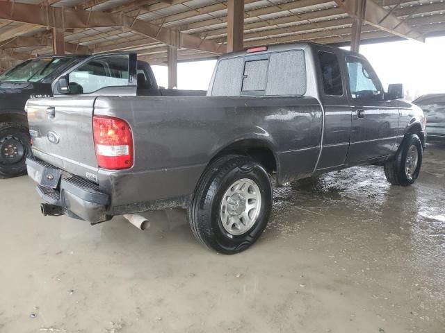
<path id="1" fill-rule="evenodd" d="M 417 162 L 414 172 L 408 173 L 407 155 L 415 147 L 417 151 Z M 423 147 L 419 136 L 412 134 L 403 140 L 396 157 L 385 163 L 385 176 L 392 185 L 409 186 L 419 177 L 423 157 Z"/>

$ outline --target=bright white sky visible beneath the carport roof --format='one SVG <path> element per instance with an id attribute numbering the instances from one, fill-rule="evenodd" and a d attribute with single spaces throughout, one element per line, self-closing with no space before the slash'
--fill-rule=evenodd
<path id="1" fill-rule="evenodd" d="M 445 94 L 445 37 L 426 42 L 404 40 L 360 46 L 382 84 L 403 83 L 407 100 L 422 94 Z M 207 90 L 216 60 L 178 64 L 178 89 Z M 153 66 L 158 84 L 167 86 L 167 67 Z"/>

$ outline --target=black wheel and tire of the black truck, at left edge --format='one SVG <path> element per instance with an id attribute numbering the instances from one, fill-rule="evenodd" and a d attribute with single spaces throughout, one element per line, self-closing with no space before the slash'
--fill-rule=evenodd
<path id="1" fill-rule="evenodd" d="M 31 137 L 25 126 L 0 123 L 0 178 L 26 173 L 26 157 L 31 154 Z"/>

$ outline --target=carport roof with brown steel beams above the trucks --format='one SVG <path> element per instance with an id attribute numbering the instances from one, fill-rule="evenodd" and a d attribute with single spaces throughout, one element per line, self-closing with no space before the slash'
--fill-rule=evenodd
<path id="1" fill-rule="evenodd" d="M 33 56 L 136 50 L 169 65 L 245 47 L 322 44 L 445 33 L 444 0 L 26 0 L 0 1 L 4 70 Z"/>

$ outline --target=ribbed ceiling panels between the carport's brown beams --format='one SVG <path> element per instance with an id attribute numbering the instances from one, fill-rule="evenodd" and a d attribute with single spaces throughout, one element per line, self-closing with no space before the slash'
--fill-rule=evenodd
<path id="1" fill-rule="evenodd" d="M 373 0 L 367 0 L 373 1 Z M 0 0 L 1 3 L 8 1 Z M 445 35 L 444 0 L 380 0 L 378 5 L 410 27 L 420 36 Z M 115 17 L 130 17 L 185 35 L 200 37 L 205 42 L 222 45 L 221 49 L 181 48 L 179 60 L 218 56 L 227 40 L 227 1 L 218 0 L 16 0 L 40 8 L 76 8 L 104 12 Z M 13 3 L 13 4 L 14 4 Z M 14 5 L 11 10 L 14 9 Z M 0 13 L 1 15 L 1 13 Z M 4 16 L 4 15 L 3 15 Z M 1 17 L 1 16 L 0 16 Z M 246 47 L 293 41 L 334 44 L 350 41 L 351 17 L 336 1 L 325 0 L 245 0 L 244 45 Z M 18 37 L 14 42 L 15 37 Z M 19 39 L 21 37 L 21 39 Z M 394 37 L 373 25 L 362 27 L 362 40 L 384 40 Z M 31 39 L 33 38 L 33 39 Z M 35 45 L 35 38 L 42 42 Z M 33 43 L 31 43 L 33 42 Z M 31 44 L 32 45 L 31 45 Z M 67 28 L 67 51 L 98 53 L 102 51 L 136 50 L 140 58 L 154 64 L 165 63 L 167 46 L 147 37 L 129 24 Z M 29 23 L 0 19 L 1 67 L 24 58 L 45 56 L 53 52 L 51 29 Z"/>

